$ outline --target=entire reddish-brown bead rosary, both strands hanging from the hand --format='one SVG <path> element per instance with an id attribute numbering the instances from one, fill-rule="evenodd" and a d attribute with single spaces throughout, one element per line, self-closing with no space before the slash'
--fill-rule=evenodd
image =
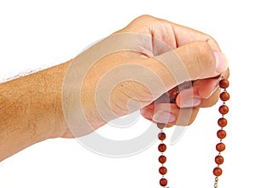
<path id="1" fill-rule="evenodd" d="M 221 152 L 225 150 L 225 145 L 222 140 L 226 137 L 226 132 L 224 131 L 224 127 L 227 125 L 228 121 L 224 117 L 225 114 L 229 112 L 229 107 L 225 104 L 225 101 L 230 99 L 230 94 L 227 92 L 226 88 L 229 87 L 230 83 L 224 77 L 220 77 L 219 88 L 222 88 L 223 91 L 219 94 L 219 99 L 222 101 L 222 105 L 219 106 L 218 111 L 221 114 L 221 117 L 218 119 L 219 130 L 217 132 L 217 136 L 219 139 L 219 143 L 216 145 L 216 151 L 218 151 L 218 155 L 215 157 L 215 163 L 217 167 L 213 169 L 212 173 L 215 176 L 214 180 L 214 188 L 218 188 L 218 177 L 222 174 L 222 168 L 220 165 L 224 163 L 224 157 L 222 157 Z M 176 100 L 177 94 L 179 92 L 175 91 L 171 94 L 171 103 Z M 160 140 L 160 145 L 158 145 L 158 151 L 160 151 L 161 155 L 159 157 L 159 162 L 161 167 L 159 168 L 159 173 L 162 175 L 160 179 L 160 185 L 163 188 L 168 184 L 167 179 L 165 178 L 165 174 L 167 173 L 167 168 L 164 166 L 166 162 L 166 156 L 164 152 L 166 151 L 166 144 L 164 144 L 164 140 L 166 139 L 166 134 L 163 132 L 163 128 L 166 127 L 164 123 L 157 123 L 157 127 L 160 128 L 160 133 L 158 134 L 158 139 Z"/>

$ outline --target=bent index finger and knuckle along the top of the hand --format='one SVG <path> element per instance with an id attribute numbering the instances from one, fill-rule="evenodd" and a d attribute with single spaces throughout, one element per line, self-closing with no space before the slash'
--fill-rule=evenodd
<path id="1" fill-rule="evenodd" d="M 203 41 L 208 43 L 212 50 L 220 51 L 218 43 L 209 35 L 150 15 L 139 16 L 137 19 L 131 21 L 123 30 L 118 32 L 140 32 L 151 35 L 168 44 L 172 49 L 179 48 L 194 41 Z"/>

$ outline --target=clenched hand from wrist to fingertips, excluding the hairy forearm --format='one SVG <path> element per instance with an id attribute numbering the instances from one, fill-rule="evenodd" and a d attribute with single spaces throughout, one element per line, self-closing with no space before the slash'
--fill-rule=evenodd
<path id="1" fill-rule="evenodd" d="M 148 120 L 187 125 L 200 107 L 216 103 L 220 74 L 229 76 L 228 65 L 212 37 L 166 20 L 140 16 L 73 60 L 63 96 L 68 99 L 72 85 L 74 91 L 81 91 L 81 99 L 62 100 L 66 119 L 70 111 L 76 113 L 76 119 L 67 119 L 72 133 L 67 131 L 63 137 L 89 134 L 139 109 Z M 78 82 L 74 76 L 83 79 Z M 171 104 L 166 94 L 190 81 L 192 87 L 183 89 L 176 104 Z M 189 117 L 177 118 L 188 110 L 192 111 Z"/>

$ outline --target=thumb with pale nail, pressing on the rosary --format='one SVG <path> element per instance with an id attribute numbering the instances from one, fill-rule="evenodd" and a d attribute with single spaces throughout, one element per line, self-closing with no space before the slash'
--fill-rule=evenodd
<path id="1" fill-rule="evenodd" d="M 168 73 L 158 73 L 169 89 L 185 81 L 216 77 L 228 67 L 224 54 L 213 51 L 211 46 L 203 41 L 189 43 L 154 56 L 154 59 L 168 70 Z"/>

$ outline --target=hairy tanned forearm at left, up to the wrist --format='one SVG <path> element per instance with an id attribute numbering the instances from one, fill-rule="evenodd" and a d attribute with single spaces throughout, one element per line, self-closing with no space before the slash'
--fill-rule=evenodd
<path id="1" fill-rule="evenodd" d="M 0 84 L 0 161 L 65 134 L 61 87 L 69 62 Z"/>

